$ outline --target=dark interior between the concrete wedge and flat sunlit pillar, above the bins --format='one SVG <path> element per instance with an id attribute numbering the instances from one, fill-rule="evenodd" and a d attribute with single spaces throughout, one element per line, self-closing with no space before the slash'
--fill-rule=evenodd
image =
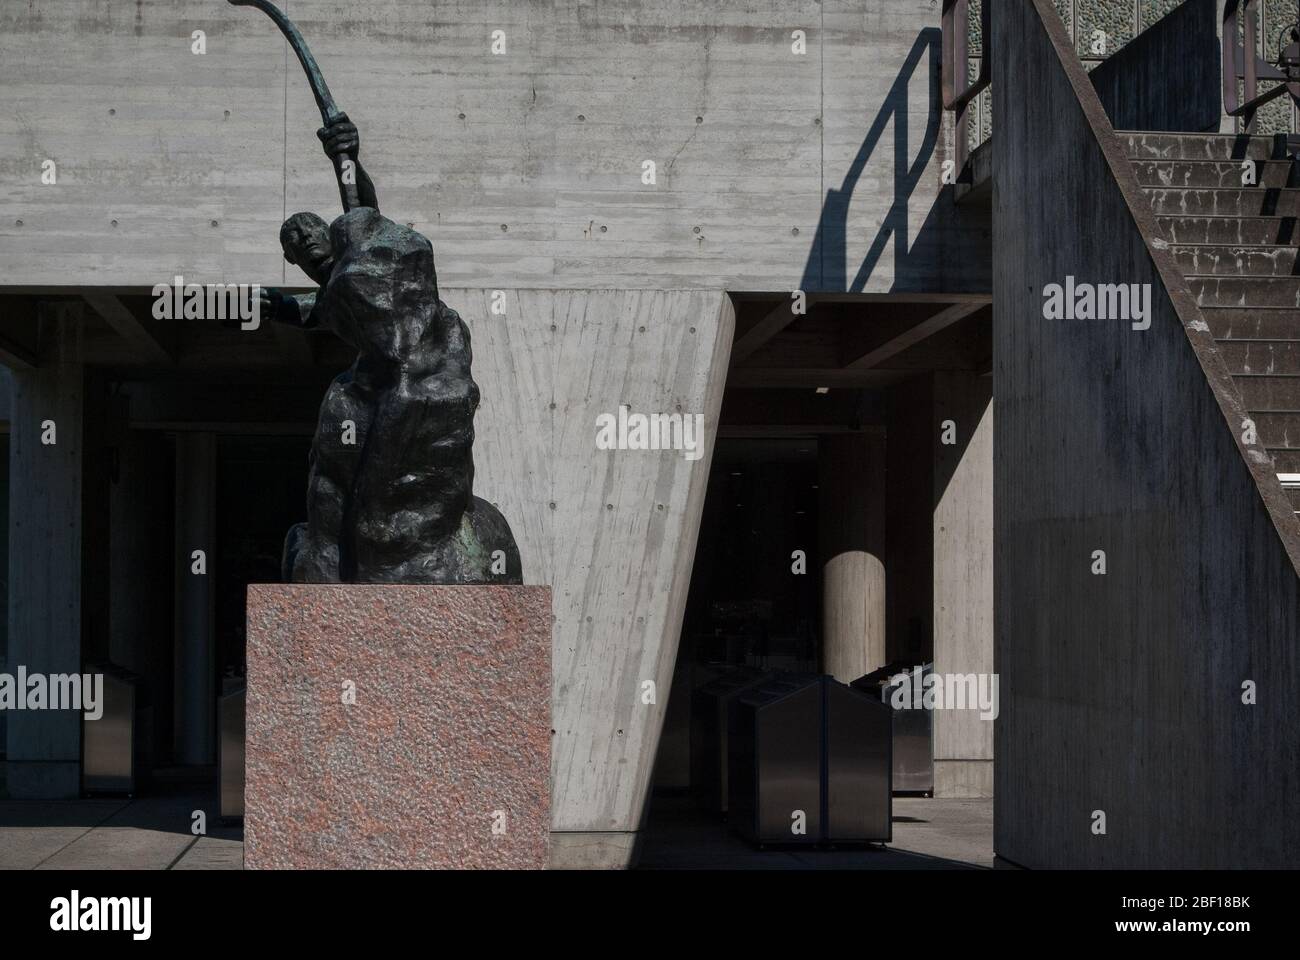
<path id="1" fill-rule="evenodd" d="M 979 298 L 818 295 L 801 313 L 788 297 L 740 297 L 736 311 L 646 813 L 649 866 L 699 857 L 741 865 L 763 846 L 728 822 L 725 786 L 722 812 L 701 803 L 718 788 L 711 770 L 723 721 L 711 704 L 734 713 L 740 700 L 760 699 L 753 684 L 763 676 L 771 684 L 771 671 L 833 674 L 844 684 L 933 661 L 936 509 L 965 454 L 971 411 L 983 410 L 974 394 L 987 403 L 991 386 L 989 311 Z M 945 440 L 949 419 L 961 429 Z M 796 550 L 805 552 L 800 567 Z M 835 565 L 853 554 L 866 554 L 867 566 L 850 561 L 833 583 Z M 864 596 L 855 589 L 883 593 L 883 622 L 870 627 L 883 639 L 868 654 L 879 657 L 872 666 L 841 676 L 844 665 L 832 666 L 827 647 L 836 630 L 828 617 L 846 596 Z M 857 688 L 878 702 L 879 689 Z M 926 786 L 900 779 L 894 764 L 896 796 L 923 799 L 932 790 L 928 722 L 924 730 Z"/>

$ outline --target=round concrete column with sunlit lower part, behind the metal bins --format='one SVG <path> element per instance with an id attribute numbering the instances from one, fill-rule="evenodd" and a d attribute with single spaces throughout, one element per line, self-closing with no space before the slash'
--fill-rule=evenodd
<path id="1" fill-rule="evenodd" d="M 885 442 L 862 433 L 818 447 L 822 663 L 848 683 L 885 665 Z"/>

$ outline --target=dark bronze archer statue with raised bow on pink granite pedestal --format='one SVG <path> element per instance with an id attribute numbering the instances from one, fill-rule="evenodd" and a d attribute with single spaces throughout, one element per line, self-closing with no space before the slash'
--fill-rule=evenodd
<path id="1" fill-rule="evenodd" d="M 263 316 L 333 330 L 358 351 L 321 403 L 312 440 L 307 523 L 285 540 L 298 583 L 521 583 L 519 548 L 491 503 L 473 496 L 469 330 L 438 298 L 433 245 L 380 213 L 338 111 L 302 35 L 265 0 L 307 72 L 334 163 L 343 215 L 294 213 L 280 230 L 289 263 L 318 286 L 263 290 Z"/>

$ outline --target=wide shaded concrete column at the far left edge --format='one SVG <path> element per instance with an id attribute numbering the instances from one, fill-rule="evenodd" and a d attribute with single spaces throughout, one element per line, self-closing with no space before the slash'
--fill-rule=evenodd
<path id="1" fill-rule="evenodd" d="M 82 414 L 79 303 L 40 313 L 40 363 L 14 371 L 9 427 L 9 657 L 6 673 L 81 673 Z M 52 442 L 49 442 L 52 441 Z M 20 692 L 21 695 L 21 692 Z M 81 793 L 81 713 L 8 713 L 6 790 Z"/>

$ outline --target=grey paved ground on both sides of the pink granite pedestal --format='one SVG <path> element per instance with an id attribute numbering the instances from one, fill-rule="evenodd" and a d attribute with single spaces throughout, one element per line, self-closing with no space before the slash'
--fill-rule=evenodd
<path id="1" fill-rule="evenodd" d="M 0 869 L 238 870 L 243 831 L 194 810 L 209 792 L 139 800 L 0 801 Z M 992 800 L 894 799 L 888 847 L 757 849 L 682 797 L 655 797 L 641 866 L 649 869 L 979 869 L 993 865 Z"/>

